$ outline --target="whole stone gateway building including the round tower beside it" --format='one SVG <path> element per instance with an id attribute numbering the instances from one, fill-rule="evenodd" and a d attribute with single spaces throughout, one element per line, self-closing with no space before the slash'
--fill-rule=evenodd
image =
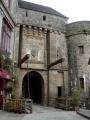
<path id="1" fill-rule="evenodd" d="M 18 96 L 54 105 L 57 97 L 70 95 L 79 84 L 88 97 L 90 22 L 68 24 L 68 18 L 54 9 L 21 0 L 15 13 Z"/>

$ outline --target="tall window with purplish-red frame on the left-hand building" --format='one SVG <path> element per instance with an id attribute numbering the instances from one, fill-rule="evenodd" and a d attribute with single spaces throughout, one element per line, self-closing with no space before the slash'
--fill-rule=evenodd
<path id="1" fill-rule="evenodd" d="M 1 50 L 10 52 L 11 27 L 5 19 L 3 19 Z"/>

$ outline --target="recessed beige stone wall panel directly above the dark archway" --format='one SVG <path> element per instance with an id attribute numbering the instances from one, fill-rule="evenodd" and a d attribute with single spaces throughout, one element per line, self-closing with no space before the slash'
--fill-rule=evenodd
<path id="1" fill-rule="evenodd" d="M 23 27 L 22 57 L 30 54 L 30 67 L 35 69 L 45 69 L 46 61 L 46 33 L 45 30 L 38 27 Z M 25 63 L 22 64 L 25 66 Z"/>

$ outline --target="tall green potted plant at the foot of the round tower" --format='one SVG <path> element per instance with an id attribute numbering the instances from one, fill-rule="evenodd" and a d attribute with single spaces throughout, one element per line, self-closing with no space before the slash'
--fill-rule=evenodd
<path id="1" fill-rule="evenodd" d="M 80 88 L 74 87 L 72 91 L 72 106 L 73 110 L 78 111 L 80 105 Z"/>

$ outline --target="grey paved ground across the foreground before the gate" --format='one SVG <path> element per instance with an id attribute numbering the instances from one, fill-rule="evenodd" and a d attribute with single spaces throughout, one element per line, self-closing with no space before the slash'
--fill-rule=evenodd
<path id="1" fill-rule="evenodd" d="M 14 114 L 0 111 L 0 120 L 87 120 L 76 112 L 52 107 L 33 106 L 32 114 Z"/>

